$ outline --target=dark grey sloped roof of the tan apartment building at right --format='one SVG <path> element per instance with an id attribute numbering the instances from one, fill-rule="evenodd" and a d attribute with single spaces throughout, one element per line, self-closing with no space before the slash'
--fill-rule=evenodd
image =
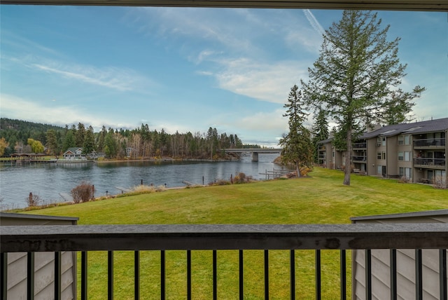
<path id="1" fill-rule="evenodd" d="M 448 130 L 448 118 L 421 121 L 415 123 L 402 123 L 387 125 L 371 132 L 364 132 L 359 139 L 370 139 L 372 137 L 392 137 L 394 135 L 436 132 Z"/>

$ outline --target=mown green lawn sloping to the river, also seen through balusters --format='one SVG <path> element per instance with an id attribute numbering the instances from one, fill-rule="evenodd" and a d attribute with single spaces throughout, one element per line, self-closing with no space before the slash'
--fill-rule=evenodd
<path id="1" fill-rule="evenodd" d="M 342 224 L 350 217 L 447 208 L 448 190 L 315 168 L 311 177 L 169 190 L 35 210 L 78 224 Z M 167 299 L 186 299 L 186 253 L 167 252 Z M 211 299 L 211 252 L 193 252 L 193 299 Z M 116 299 L 133 299 L 133 253 L 116 252 Z M 218 251 L 218 298 L 237 299 L 238 253 Z M 339 299 L 339 252 L 324 251 L 323 299 Z M 297 299 L 314 298 L 314 252 L 297 251 Z M 348 266 L 350 264 L 347 264 Z M 271 299 L 288 299 L 288 252 L 269 252 Z M 160 253 L 141 253 L 141 298 L 158 299 Z M 244 299 L 262 299 L 262 251 L 244 252 Z M 350 277 L 348 277 L 350 278 Z M 106 294 L 106 254 L 89 253 L 89 299 Z M 348 288 L 350 290 L 350 287 Z"/>

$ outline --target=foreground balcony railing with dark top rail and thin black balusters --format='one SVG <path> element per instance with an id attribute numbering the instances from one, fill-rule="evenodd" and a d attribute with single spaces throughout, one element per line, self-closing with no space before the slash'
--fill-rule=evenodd
<path id="1" fill-rule="evenodd" d="M 321 299 L 321 250 L 340 252 L 340 295 L 346 299 L 346 250 L 365 250 L 365 295 L 372 296 L 371 259 L 373 249 L 438 249 L 440 252 L 440 299 L 447 299 L 448 224 L 344 224 L 344 225 L 104 225 L 104 226 L 2 226 L 1 299 L 8 299 L 8 253 L 27 252 L 27 294 L 34 298 L 34 253 L 55 252 L 55 299 L 61 299 L 60 253 L 80 251 L 80 299 L 87 299 L 87 252 L 108 253 L 108 298 L 113 299 L 113 253 L 134 252 L 134 298 L 139 299 L 141 250 L 160 251 L 160 299 L 165 299 L 165 251 L 186 251 L 186 290 L 191 299 L 191 252 L 211 250 L 213 255 L 213 299 L 217 298 L 217 250 L 239 252 L 239 299 L 243 299 L 244 250 L 263 250 L 264 294 L 269 299 L 269 250 L 288 250 L 290 257 L 290 299 L 295 299 L 295 252 L 315 250 L 316 299 Z M 416 293 L 422 294 L 421 259 L 416 259 Z M 420 271 L 420 272 L 419 272 Z M 396 261 L 391 263 L 391 299 L 396 299 Z M 221 276 L 221 274 L 220 274 Z M 393 282 L 395 278 L 395 282 Z M 106 296 L 104 295 L 104 299 Z M 418 298 L 417 298 L 418 299 Z"/>

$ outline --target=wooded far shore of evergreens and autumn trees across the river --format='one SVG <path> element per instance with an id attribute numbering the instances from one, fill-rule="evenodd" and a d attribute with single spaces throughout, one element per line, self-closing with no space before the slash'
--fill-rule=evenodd
<path id="1" fill-rule="evenodd" d="M 71 147 L 82 147 L 83 154 L 103 154 L 106 158 L 133 159 L 197 158 L 217 159 L 225 157 L 222 149 L 260 148 L 257 144 L 243 144 L 237 135 L 218 133 L 216 128 L 207 132 L 174 134 L 164 129 L 150 130 L 148 124 L 141 124 L 133 130 L 102 127 L 94 132 L 92 126 L 65 125 L 64 128 L 1 118 L 1 156 L 13 153 L 43 153 L 61 156 Z"/>

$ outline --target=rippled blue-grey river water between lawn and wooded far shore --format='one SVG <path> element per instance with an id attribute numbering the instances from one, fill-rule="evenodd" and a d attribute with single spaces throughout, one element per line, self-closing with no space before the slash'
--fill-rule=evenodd
<path id="1" fill-rule="evenodd" d="M 0 208 L 26 207 L 29 193 L 38 195 L 45 203 L 62 202 L 60 193 L 70 195 L 71 189 L 81 182 L 95 186 L 95 196 L 121 193 L 117 187 L 130 188 L 141 184 L 155 186 L 185 186 L 230 179 L 230 175 L 244 172 L 254 179 L 265 179 L 266 170 L 279 169 L 272 161 L 278 154 L 260 154 L 258 163 L 245 156 L 239 161 L 221 162 L 126 162 L 126 163 L 73 163 L 22 164 L 0 166 Z"/>

